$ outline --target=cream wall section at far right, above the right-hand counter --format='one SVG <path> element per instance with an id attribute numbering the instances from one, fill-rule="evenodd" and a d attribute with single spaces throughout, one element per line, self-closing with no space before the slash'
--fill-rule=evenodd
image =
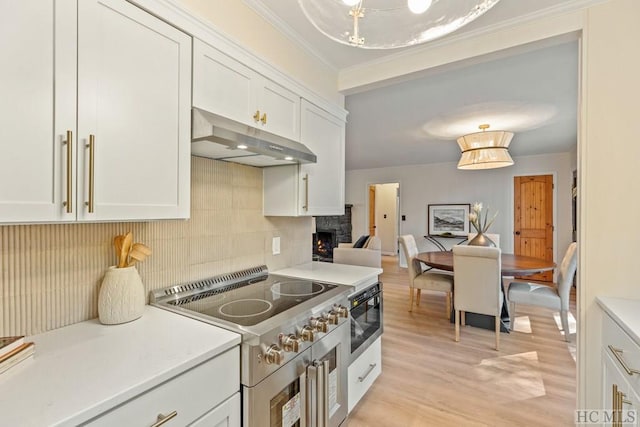
<path id="1" fill-rule="evenodd" d="M 612 224 L 640 212 L 640 1 L 588 9 L 583 49 L 582 140 L 578 151 L 580 221 L 579 404 L 600 407 L 600 309 L 596 296 L 640 299 L 640 235 Z M 582 357 L 580 357 L 582 356 Z"/>

